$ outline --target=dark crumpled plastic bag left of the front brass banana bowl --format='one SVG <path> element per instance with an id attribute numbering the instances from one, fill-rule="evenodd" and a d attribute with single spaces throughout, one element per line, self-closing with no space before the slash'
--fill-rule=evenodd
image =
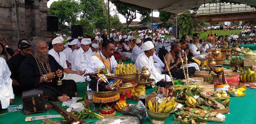
<path id="1" fill-rule="evenodd" d="M 140 123 L 143 123 L 146 119 L 146 111 L 133 108 L 132 106 L 124 106 L 120 113 L 123 115 L 137 117 L 140 120 Z"/>

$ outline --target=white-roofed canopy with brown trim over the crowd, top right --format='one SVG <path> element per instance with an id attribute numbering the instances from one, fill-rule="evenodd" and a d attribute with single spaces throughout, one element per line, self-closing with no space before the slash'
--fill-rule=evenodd
<path id="1" fill-rule="evenodd" d="M 210 19 L 211 23 L 223 21 L 251 21 L 256 20 L 256 9 L 246 4 L 204 4 L 197 10 L 196 19 Z"/>

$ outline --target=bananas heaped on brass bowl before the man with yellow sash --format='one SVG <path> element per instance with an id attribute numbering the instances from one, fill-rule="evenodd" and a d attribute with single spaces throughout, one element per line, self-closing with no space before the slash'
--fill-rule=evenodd
<path id="1" fill-rule="evenodd" d="M 136 73 L 136 67 L 134 64 L 117 64 L 115 74 L 134 74 Z"/>

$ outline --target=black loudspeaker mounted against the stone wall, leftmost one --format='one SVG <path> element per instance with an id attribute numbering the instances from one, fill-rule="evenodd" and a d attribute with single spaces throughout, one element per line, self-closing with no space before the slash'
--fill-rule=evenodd
<path id="1" fill-rule="evenodd" d="M 58 31 L 58 16 L 47 16 L 46 27 L 47 31 Z"/>

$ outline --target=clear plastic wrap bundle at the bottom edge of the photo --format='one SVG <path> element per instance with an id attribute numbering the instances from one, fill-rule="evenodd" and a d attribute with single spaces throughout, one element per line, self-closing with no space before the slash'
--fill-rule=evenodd
<path id="1" fill-rule="evenodd" d="M 140 124 L 140 121 L 136 117 L 132 116 L 112 116 L 105 117 L 95 122 L 95 124 Z"/>

